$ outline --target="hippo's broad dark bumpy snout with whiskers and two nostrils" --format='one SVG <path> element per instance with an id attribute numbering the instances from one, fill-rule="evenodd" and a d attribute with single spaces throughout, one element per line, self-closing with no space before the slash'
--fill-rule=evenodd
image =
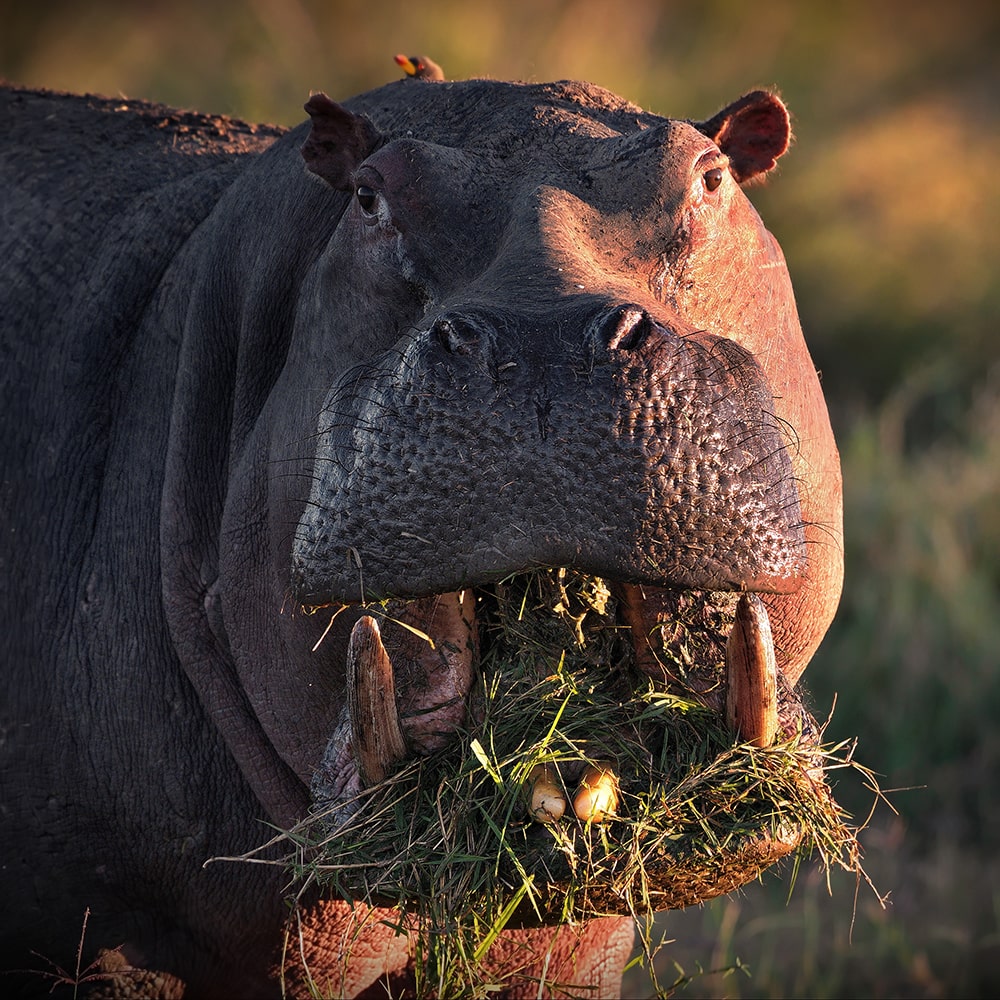
<path id="1" fill-rule="evenodd" d="M 784 432 L 753 359 L 631 303 L 451 310 L 348 373 L 320 419 L 294 582 L 312 604 L 421 597 L 539 566 L 794 589 Z"/>

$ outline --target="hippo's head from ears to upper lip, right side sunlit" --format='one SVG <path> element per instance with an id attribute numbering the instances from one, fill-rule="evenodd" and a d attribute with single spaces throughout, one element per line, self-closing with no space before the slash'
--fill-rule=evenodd
<path id="1" fill-rule="evenodd" d="M 340 367 L 297 602 L 393 598 L 433 637 L 351 643 L 359 684 L 396 674 L 399 748 L 461 718 L 477 588 L 534 567 L 606 579 L 666 681 L 680 595 L 758 593 L 794 685 L 839 598 L 841 494 L 784 259 L 740 187 L 788 146 L 781 101 L 698 123 L 579 84 L 406 96 L 306 106 L 303 156 L 343 209 L 299 317 Z M 357 725 L 341 750 L 348 784 L 359 754 L 392 766 Z"/>

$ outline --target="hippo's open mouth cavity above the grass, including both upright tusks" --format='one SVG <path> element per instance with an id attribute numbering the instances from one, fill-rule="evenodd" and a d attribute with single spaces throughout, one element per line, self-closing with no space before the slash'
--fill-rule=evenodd
<path id="1" fill-rule="evenodd" d="M 734 736 L 757 746 L 774 742 L 779 727 L 800 724 L 756 594 L 609 585 L 565 569 L 536 570 L 497 585 L 382 602 L 368 609 L 374 614 L 357 618 L 347 653 L 346 709 L 317 779 L 320 798 L 346 800 L 411 755 L 445 747 L 476 713 L 481 663 L 546 652 L 558 659 L 565 647 L 588 646 L 586 609 L 574 614 L 570 608 L 569 592 L 576 583 L 579 593 L 581 581 L 604 633 L 596 650 L 591 637 L 584 654 L 590 662 L 613 660 L 623 683 L 648 680 L 724 713 Z M 498 620 L 509 616 L 512 592 L 523 595 L 520 628 L 513 632 Z M 527 606 L 532 599 L 534 608 Z"/>

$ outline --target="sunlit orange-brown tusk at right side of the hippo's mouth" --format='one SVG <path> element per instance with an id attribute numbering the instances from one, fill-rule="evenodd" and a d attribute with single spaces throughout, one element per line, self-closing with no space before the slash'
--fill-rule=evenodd
<path id="1" fill-rule="evenodd" d="M 726 642 L 726 717 L 746 743 L 766 747 L 778 732 L 778 668 L 764 602 L 744 594 Z"/>

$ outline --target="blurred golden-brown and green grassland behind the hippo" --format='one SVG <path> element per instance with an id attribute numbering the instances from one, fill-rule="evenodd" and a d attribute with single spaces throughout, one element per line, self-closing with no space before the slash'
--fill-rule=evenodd
<path id="1" fill-rule="evenodd" d="M 862 834 L 889 898 L 811 864 L 789 896 L 769 873 L 663 915 L 658 976 L 689 996 L 1000 995 L 1000 4 L 0 0 L 9 81 L 278 124 L 310 90 L 396 78 L 397 52 L 673 117 L 757 86 L 787 100 L 796 145 L 750 195 L 846 480 L 844 600 L 805 683 L 817 717 L 836 699 L 828 737 L 900 789 Z M 837 796 L 867 817 L 849 774 Z"/>

